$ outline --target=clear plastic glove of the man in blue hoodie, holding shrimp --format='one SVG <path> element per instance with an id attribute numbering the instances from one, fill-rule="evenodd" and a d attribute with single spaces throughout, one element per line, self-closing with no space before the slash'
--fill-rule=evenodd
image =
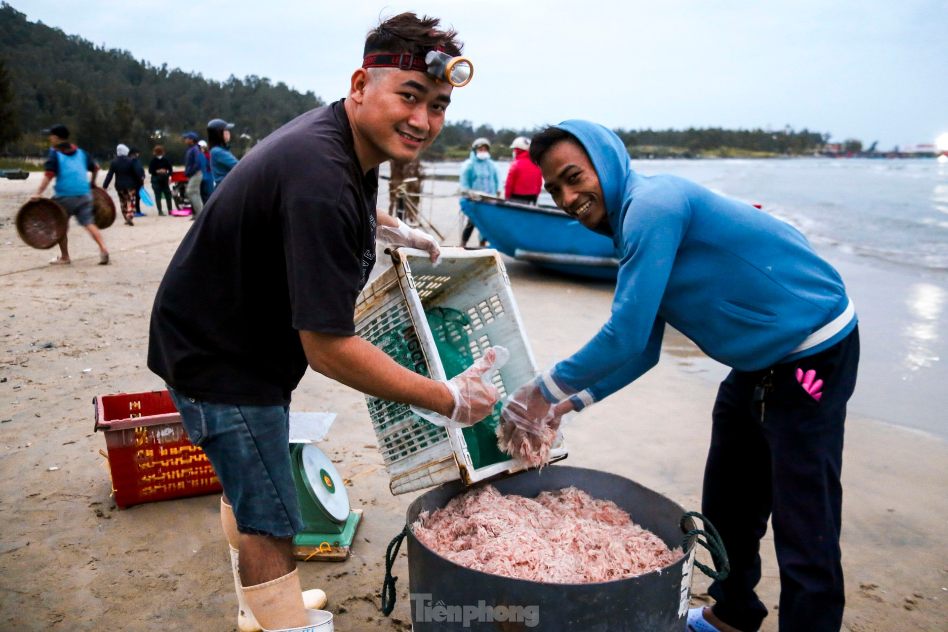
<path id="1" fill-rule="evenodd" d="M 556 442 L 563 415 L 573 410 L 568 400 L 548 402 L 538 385 L 536 379 L 514 391 L 503 405 L 501 423 L 497 426 L 501 450 L 528 467 L 550 460 L 550 448 Z"/>

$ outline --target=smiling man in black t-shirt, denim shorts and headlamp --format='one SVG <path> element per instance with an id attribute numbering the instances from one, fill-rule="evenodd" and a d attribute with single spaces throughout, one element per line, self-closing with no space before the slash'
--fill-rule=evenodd
<path id="1" fill-rule="evenodd" d="M 148 366 L 168 384 L 191 441 L 224 487 L 241 630 L 302 626 L 313 615 L 304 605 L 325 603 L 321 591 L 301 598 L 292 554 L 302 520 L 288 406 L 307 366 L 457 424 L 477 423 L 498 400 L 481 380 L 493 354 L 438 382 L 355 331 L 376 225 L 388 244 L 439 256 L 427 233 L 375 209 L 376 167 L 417 158 L 444 124 L 451 82 L 436 81 L 439 66 L 425 59 L 431 51 L 460 55 L 461 45 L 438 24 L 403 13 L 373 29 L 349 96 L 297 117 L 246 154 L 198 216 L 155 296 Z"/>

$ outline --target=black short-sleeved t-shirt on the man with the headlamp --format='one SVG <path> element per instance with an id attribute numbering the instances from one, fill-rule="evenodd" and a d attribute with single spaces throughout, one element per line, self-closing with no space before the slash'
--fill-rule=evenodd
<path id="1" fill-rule="evenodd" d="M 174 254 L 155 296 L 148 368 L 196 399 L 289 404 L 307 366 L 299 331 L 356 333 L 377 191 L 341 100 L 264 138 Z"/>

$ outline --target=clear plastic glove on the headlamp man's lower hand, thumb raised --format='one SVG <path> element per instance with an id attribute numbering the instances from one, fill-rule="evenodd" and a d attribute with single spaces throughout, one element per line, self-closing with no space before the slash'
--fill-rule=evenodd
<path id="1" fill-rule="evenodd" d="M 503 347 L 491 347 L 481 359 L 469 366 L 465 372 L 450 380 L 441 380 L 454 395 L 454 410 L 450 418 L 432 410 L 411 406 L 411 412 L 435 425 L 446 428 L 464 428 L 474 425 L 489 415 L 501 399 L 501 393 L 491 381 L 510 359 L 510 352 Z"/>

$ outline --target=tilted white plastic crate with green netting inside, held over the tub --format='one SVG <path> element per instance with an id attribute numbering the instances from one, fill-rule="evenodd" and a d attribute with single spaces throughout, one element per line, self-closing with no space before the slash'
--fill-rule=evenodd
<path id="1" fill-rule="evenodd" d="M 494 379 L 501 399 L 537 375 L 537 361 L 496 250 L 442 248 L 442 262 L 434 267 L 427 253 L 399 248 L 392 251 L 392 263 L 392 268 L 359 296 L 356 334 L 399 364 L 434 379 L 446 379 L 425 312 L 433 308 L 457 310 L 469 324 L 447 333 L 451 344 L 464 345 L 474 359 L 492 345 L 510 350 L 510 360 Z M 499 457 L 493 433 L 488 436 L 482 430 L 476 437 L 473 430 L 430 424 L 405 404 L 368 396 L 366 401 L 392 494 L 455 479 L 471 484 L 524 469 L 519 460 Z M 566 453 L 560 436 L 552 460 L 564 459 Z"/>

